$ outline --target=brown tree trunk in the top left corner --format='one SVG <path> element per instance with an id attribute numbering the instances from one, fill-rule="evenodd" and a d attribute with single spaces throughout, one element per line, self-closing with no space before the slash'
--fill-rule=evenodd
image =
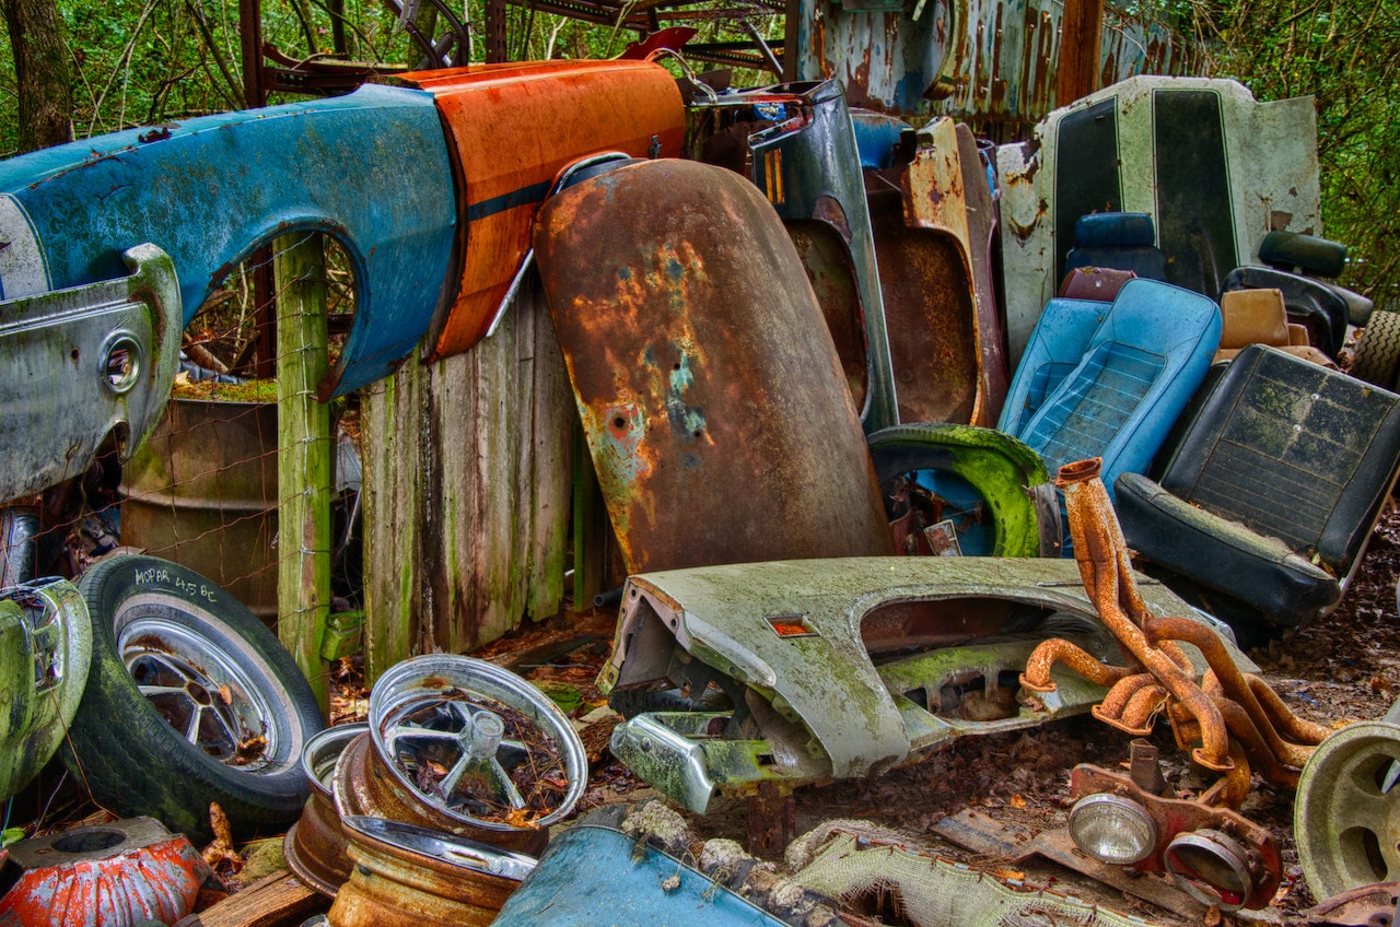
<path id="1" fill-rule="evenodd" d="M 20 151 L 73 140 L 73 88 L 63 20 L 53 0 L 4 0 L 20 95 Z"/>

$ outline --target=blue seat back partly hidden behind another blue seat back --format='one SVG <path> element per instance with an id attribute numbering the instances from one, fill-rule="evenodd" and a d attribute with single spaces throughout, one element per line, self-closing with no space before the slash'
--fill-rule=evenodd
<path id="1" fill-rule="evenodd" d="M 1095 329 L 1109 312 L 1107 302 L 1054 298 L 1046 302 L 1030 342 L 1007 391 L 997 430 L 1021 434 L 1064 378 L 1079 365 Z"/>

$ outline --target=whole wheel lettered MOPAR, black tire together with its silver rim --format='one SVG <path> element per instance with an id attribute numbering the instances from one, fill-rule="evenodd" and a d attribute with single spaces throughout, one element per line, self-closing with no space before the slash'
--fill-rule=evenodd
<path id="1" fill-rule="evenodd" d="M 277 637 L 210 580 L 157 557 L 104 560 L 78 590 L 92 668 L 63 760 L 92 797 L 196 842 L 210 837 L 216 801 L 238 837 L 294 821 L 311 794 L 301 749 L 322 720 Z"/>

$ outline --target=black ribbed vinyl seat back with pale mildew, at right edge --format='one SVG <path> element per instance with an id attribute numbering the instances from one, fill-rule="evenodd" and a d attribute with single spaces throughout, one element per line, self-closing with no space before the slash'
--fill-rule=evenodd
<path id="1" fill-rule="evenodd" d="M 1161 485 L 1317 555 L 1344 577 L 1390 492 L 1397 455 L 1400 396 L 1254 344 L 1200 405 Z"/>

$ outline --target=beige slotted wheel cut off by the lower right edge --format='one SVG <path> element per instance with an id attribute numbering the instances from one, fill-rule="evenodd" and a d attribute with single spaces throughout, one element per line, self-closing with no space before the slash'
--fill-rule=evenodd
<path id="1" fill-rule="evenodd" d="M 1393 720 L 1334 731 L 1303 766 L 1294 833 L 1303 878 L 1317 898 L 1400 875 L 1397 766 L 1400 724 Z"/>

